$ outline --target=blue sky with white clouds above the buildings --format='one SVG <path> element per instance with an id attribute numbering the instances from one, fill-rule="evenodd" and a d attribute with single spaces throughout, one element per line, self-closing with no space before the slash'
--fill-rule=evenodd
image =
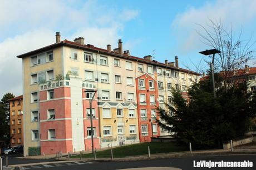
<path id="1" fill-rule="evenodd" d="M 86 44 L 117 47 L 132 56 L 151 55 L 159 62 L 174 61 L 195 71 L 204 59 L 199 51 L 208 49 L 197 32 L 209 19 L 232 26 L 234 36 L 256 41 L 256 0 L 216 1 L 0 1 L 0 97 L 22 94 L 22 59 L 17 55 L 61 40 L 85 38 Z M 253 46 L 255 49 L 255 47 Z M 253 64 L 252 64 L 253 66 Z M 201 69 L 207 69 L 203 63 Z"/>

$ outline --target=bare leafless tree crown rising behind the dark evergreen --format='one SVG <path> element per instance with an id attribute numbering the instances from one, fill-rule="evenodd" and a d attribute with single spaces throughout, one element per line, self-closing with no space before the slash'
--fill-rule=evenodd
<path id="1" fill-rule="evenodd" d="M 230 73 L 238 69 L 243 69 L 245 64 L 254 59 L 252 36 L 247 40 L 242 40 L 242 29 L 238 37 L 233 34 L 233 27 L 224 28 L 223 22 L 214 22 L 210 19 L 210 24 L 206 27 L 198 24 L 204 33 L 196 31 L 201 37 L 201 42 L 212 48 L 221 51 L 215 55 L 214 69 L 220 72 L 224 79 L 224 86 L 228 87 Z"/>

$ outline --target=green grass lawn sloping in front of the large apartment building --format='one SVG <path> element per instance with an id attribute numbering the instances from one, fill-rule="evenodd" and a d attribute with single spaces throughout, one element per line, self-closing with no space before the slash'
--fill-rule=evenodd
<path id="1" fill-rule="evenodd" d="M 138 143 L 127 146 L 112 148 L 113 157 L 139 156 L 147 154 L 147 146 L 150 147 L 150 154 L 189 151 L 186 147 L 177 146 L 175 143 Z M 96 152 L 97 158 L 111 158 L 111 149 Z M 80 158 L 80 155 L 71 156 L 71 158 Z M 82 158 L 93 158 L 92 153 L 83 154 Z"/>

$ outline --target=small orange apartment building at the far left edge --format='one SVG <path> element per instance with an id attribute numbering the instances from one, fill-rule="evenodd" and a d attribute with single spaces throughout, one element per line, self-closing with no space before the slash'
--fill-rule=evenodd
<path id="1" fill-rule="evenodd" d="M 22 95 L 9 99 L 11 147 L 23 145 Z"/>

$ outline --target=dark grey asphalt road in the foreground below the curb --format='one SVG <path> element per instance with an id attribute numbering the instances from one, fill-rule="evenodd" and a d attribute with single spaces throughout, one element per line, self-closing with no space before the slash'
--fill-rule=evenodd
<path id="1" fill-rule="evenodd" d="M 130 162 L 77 162 L 77 163 L 56 163 L 45 164 L 40 166 L 16 167 L 15 169 L 125 169 L 125 168 L 140 168 L 140 167 L 175 167 L 180 169 L 209 169 L 209 168 L 194 168 L 193 161 L 252 161 L 253 168 L 210 168 L 210 169 L 256 169 L 256 155 L 233 155 L 233 156 L 194 156 L 186 158 L 169 158 L 169 159 L 153 159 L 145 161 L 130 161 Z M 40 169 L 39 169 L 40 168 Z M 154 168 L 153 168 L 154 169 Z"/>

